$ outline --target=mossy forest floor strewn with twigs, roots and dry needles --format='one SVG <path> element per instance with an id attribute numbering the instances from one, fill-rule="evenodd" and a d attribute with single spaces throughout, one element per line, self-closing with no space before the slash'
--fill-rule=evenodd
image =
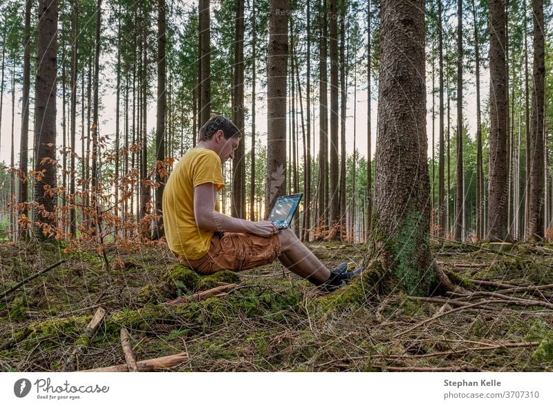
<path id="1" fill-rule="evenodd" d="M 310 248 L 328 266 L 353 267 L 366 252 Z M 86 252 L 0 243 L 0 293 L 68 259 L 0 301 L 0 371 L 124 365 L 123 327 L 138 361 L 178 354 L 169 371 L 553 371 L 553 248 L 445 243 L 432 252 L 468 293 L 382 297 L 361 275 L 324 294 L 278 262 L 198 277 L 160 247 L 119 252 L 124 267 L 106 275 Z M 192 296 L 218 286 L 226 291 Z M 99 306 L 106 313 L 88 340 Z"/>

